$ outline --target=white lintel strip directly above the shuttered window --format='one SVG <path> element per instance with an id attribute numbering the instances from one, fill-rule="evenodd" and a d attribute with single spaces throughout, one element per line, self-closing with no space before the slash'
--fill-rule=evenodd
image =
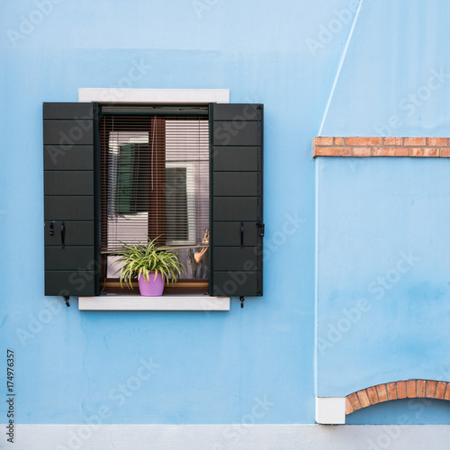
<path id="1" fill-rule="evenodd" d="M 78 89 L 78 102 L 229 103 L 229 89 Z"/>

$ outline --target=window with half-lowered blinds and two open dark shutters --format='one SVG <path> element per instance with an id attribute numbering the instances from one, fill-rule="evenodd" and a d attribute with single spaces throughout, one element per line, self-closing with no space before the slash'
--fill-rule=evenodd
<path id="1" fill-rule="evenodd" d="M 210 295 L 262 295 L 262 105 L 208 105 L 195 91 L 188 105 L 164 106 L 130 91 L 130 105 L 43 105 L 46 295 L 99 295 L 112 248 L 146 233 L 183 249 L 186 261 L 209 241 L 209 271 L 191 275 L 204 277 Z M 172 92 L 157 95 L 173 101 Z M 119 116 L 122 125 L 105 132 Z M 204 145 L 197 138 L 193 147 L 207 162 L 177 153 L 186 148 L 180 123 L 197 127 Z"/>

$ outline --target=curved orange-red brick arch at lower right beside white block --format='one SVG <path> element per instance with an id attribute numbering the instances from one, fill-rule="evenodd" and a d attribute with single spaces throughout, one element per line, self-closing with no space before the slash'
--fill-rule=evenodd
<path id="1" fill-rule="evenodd" d="M 377 384 L 347 395 L 346 414 L 383 401 L 419 398 L 450 401 L 450 383 L 433 380 L 404 380 Z"/>

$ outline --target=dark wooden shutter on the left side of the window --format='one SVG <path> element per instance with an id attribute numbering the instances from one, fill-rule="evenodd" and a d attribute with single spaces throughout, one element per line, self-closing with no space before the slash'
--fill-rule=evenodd
<path id="1" fill-rule="evenodd" d="M 95 295 L 94 104 L 43 103 L 45 295 Z"/>

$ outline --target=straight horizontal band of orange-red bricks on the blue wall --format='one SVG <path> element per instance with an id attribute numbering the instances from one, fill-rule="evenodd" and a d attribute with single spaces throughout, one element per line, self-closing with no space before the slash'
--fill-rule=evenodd
<path id="1" fill-rule="evenodd" d="M 314 138 L 313 157 L 450 157 L 447 138 Z"/>

